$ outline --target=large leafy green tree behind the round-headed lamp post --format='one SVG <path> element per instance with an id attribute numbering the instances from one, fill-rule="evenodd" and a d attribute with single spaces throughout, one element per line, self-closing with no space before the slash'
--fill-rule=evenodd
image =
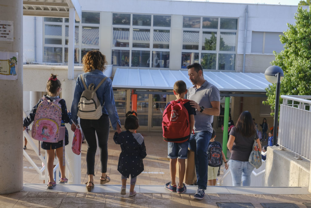
<path id="1" fill-rule="evenodd" d="M 310 8 L 311 10 L 311 8 Z M 289 27 L 280 35 L 280 41 L 285 44 L 280 53 L 273 51 L 275 60 L 272 65 L 280 66 L 284 71 L 281 81 L 281 95 L 310 95 L 311 94 L 311 11 L 298 7 L 295 14 L 295 25 Z M 263 104 L 275 108 L 276 84 L 266 88 L 267 101 Z M 280 99 L 282 103 L 282 99 Z M 272 113 L 274 115 L 274 113 Z"/>

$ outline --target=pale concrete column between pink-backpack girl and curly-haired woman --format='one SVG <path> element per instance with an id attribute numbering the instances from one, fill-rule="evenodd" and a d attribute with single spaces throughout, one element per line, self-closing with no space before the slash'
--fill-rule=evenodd
<path id="1" fill-rule="evenodd" d="M 76 80 L 63 80 L 62 81 L 62 98 L 65 99 L 67 109 L 71 109 L 71 104 L 73 100 L 74 90 L 76 86 Z M 72 184 L 81 184 L 81 154 L 76 155 L 72 152 L 72 139 L 73 132 L 71 131 L 71 126 L 66 123 L 66 128 L 69 135 L 69 144 L 66 146 L 66 155 L 69 163 L 69 167 L 66 167 L 66 176 L 69 178 L 68 168 L 73 172 Z"/>

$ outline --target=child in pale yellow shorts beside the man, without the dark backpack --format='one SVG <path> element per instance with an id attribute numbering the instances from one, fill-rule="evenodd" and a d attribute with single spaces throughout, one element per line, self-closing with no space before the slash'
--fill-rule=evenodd
<path id="1" fill-rule="evenodd" d="M 207 149 L 208 152 L 211 151 L 211 146 L 213 143 L 217 143 L 218 146 L 221 148 L 221 144 L 219 142 L 216 142 L 215 138 L 216 138 L 216 132 L 213 129 L 211 140 L 208 145 L 209 148 Z M 225 163 L 225 169 L 228 170 L 228 164 L 227 164 L 228 161 L 226 160 L 225 154 L 222 150 L 221 150 L 221 154 L 222 154 L 222 160 Z M 220 166 L 219 167 L 208 166 L 208 169 L 207 169 L 207 185 L 208 186 L 216 186 L 216 181 L 217 181 L 216 179 L 217 179 L 217 174 L 218 174 L 219 169 L 220 169 Z"/>

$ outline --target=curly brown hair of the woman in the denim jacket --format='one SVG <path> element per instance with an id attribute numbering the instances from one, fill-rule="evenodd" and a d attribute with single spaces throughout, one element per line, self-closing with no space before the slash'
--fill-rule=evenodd
<path id="1" fill-rule="evenodd" d="M 82 58 L 83 71 L 89 72 L 95 69 L 104 71 L 108 64 L 106 56 L 100 51 L 88 51 Z"/>

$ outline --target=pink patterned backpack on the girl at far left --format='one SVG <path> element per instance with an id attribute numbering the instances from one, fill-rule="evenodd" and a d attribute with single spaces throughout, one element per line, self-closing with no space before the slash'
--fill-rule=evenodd
<path id="1" fill-rule="evenodd" d="M 43 97 L 38 105 L 32 124 L 31 136 L 35 140 L 56 143 L 64 139 L 65 128 L 61 128 L 62 106 L 60 98 L 49 101 Z"/>

